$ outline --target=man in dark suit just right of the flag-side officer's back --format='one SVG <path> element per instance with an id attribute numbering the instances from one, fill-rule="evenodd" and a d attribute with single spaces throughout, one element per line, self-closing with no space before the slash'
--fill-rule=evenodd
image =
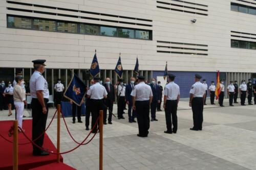
<path id="1" fill-rule="evenodd" d="M 107 98 L 104 99 L 104 115 L 103 115 L 103 124 L 106 125 L 106 111 L 109 108 L 109 124 L 112 124 L 112 111 L 113 111 L 113 104 L 115 102 L 115 89 L 114 86 L 111 84 L 110 78 L 105 79 L 104 87 L 106 92 L 108 92 Z"/>

